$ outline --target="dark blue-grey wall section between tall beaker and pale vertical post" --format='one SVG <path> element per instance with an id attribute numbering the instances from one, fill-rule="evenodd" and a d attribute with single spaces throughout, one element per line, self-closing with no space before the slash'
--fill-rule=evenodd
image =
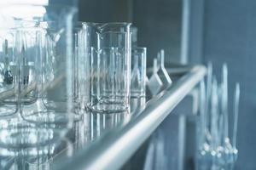
<path id="1" fill-rule="evenodd" d="M 133 1 L 133 23 L 138 44 L 148 48 L 148 65 L 161 48 L 167 62 L 180 62 L 182 0 Z"/>

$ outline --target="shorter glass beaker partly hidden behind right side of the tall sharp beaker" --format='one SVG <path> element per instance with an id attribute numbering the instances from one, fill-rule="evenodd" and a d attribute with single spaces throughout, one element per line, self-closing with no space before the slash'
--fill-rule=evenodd
<path id="1" fill-rule="evenodd" d="M 131 50 L 131 98 L 146 96 L 147 48 Z"/>

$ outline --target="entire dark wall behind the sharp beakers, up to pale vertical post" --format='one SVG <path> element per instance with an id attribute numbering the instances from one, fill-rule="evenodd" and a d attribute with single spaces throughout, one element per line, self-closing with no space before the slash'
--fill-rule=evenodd
<path id="1" fill-rule="evenodd" d="M 182 0 L 80 0 L 79 20 L 132 22 L 138 28 L 138 45 L 148 48 L 152 65 L 161 48 L 166 61 L 178 62 L 181 44 Z"/>

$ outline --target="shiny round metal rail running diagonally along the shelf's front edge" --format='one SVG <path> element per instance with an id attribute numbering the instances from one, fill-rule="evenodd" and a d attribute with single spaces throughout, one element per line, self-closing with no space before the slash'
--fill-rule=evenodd
<path id="1" fill-rule="evenodd" d="M 192 67 L 183 77 L 153 99 L 145 109 L 124 127 L 114 129 L 102 139 L 81 150 L 70 160 L 62 161 L 58 170 L 100 170 L 119 169 L 125 161 L 148 139 L 155 128 L 170 114 L 175 106 L 187 95 L 206 74 L 201 65 Z"/>

